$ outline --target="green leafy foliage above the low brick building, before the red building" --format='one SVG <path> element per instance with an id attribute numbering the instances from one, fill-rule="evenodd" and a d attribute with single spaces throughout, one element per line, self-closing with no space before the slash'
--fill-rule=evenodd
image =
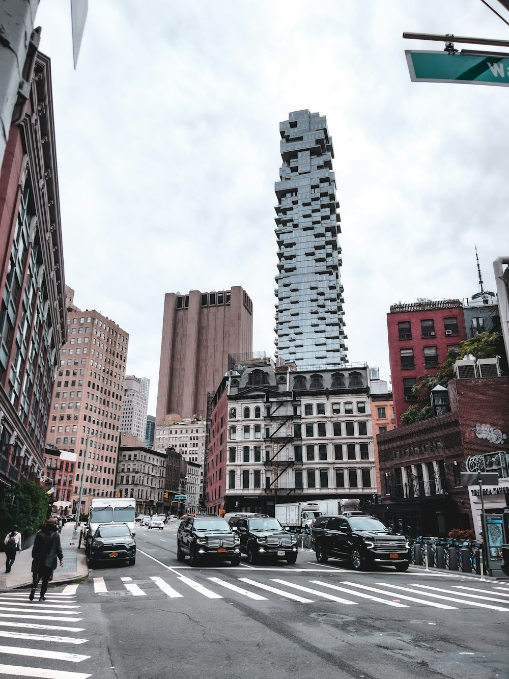
<path id="1" fill-rule="evenodd" d="M 417 378 L 417 382 L 412 388 L 412 394 L 417 398 L 417 403 L 411 405 L 402 414 L 401 421 L 404 424 L 420 422 L 433 416 L 430 405 L 432 389 L 438 384 L 447 387 L 449 380 L 454 377 L 455 362 L 468 354 L 472 354 L 476 359 L 493 359 L 495 356 L 501 356 L 502 371 L 507 372 L 508 370 L 504 342 L 500 333 L 478 333 L 475 337 L 464 339 L 459 344 L 459 351 L 451 349 L 447 352 L 445 361 L 438 366 L 436 375 L 426 373 Z"/>

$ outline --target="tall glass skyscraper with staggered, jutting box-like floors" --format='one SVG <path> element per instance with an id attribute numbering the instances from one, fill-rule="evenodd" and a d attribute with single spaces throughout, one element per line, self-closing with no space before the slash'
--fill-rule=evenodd
<path id="1" fill-rule="evenodd" d="M 341 367 L 347 347 L 333 141 L 326 117 L 307 109 L 290 113 L 280 134 L 276 356 L 301 369 Z"/>

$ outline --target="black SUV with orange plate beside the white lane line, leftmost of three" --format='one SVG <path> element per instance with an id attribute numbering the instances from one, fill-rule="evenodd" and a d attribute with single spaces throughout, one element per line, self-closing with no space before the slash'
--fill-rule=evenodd
<path id="1" fill-rule="evenodd" d="M 176 534 L 176 557 L 198 566 L 203 559 L 240 564 L 240 538 L 225 519 L 217 516 L 189 516 L 181 521 Z"/>

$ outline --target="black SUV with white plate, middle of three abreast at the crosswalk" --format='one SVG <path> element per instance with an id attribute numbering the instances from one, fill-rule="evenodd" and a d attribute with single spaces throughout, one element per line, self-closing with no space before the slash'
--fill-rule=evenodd
<path id="1" fill-rule="evenodd" d="M 287 564 L 297 561 L 297 538 L 282 528 L 278 519 L 269 516 L 232 516 L 229 524 L 240 536 L 240 551 L 247 554 L 248 562 L 286 559 Z"/>

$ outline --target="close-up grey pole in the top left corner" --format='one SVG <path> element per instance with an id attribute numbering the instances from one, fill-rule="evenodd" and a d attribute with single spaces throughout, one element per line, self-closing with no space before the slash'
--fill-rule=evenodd
<path id="1" fill-rule="evenodd" d="M 39 47 L 39 0 L 3 0 L 0 10 L 0 166 L 16 107 L 24 112 Z M 18 115 L 16 115 L 16 118 Z"/>

